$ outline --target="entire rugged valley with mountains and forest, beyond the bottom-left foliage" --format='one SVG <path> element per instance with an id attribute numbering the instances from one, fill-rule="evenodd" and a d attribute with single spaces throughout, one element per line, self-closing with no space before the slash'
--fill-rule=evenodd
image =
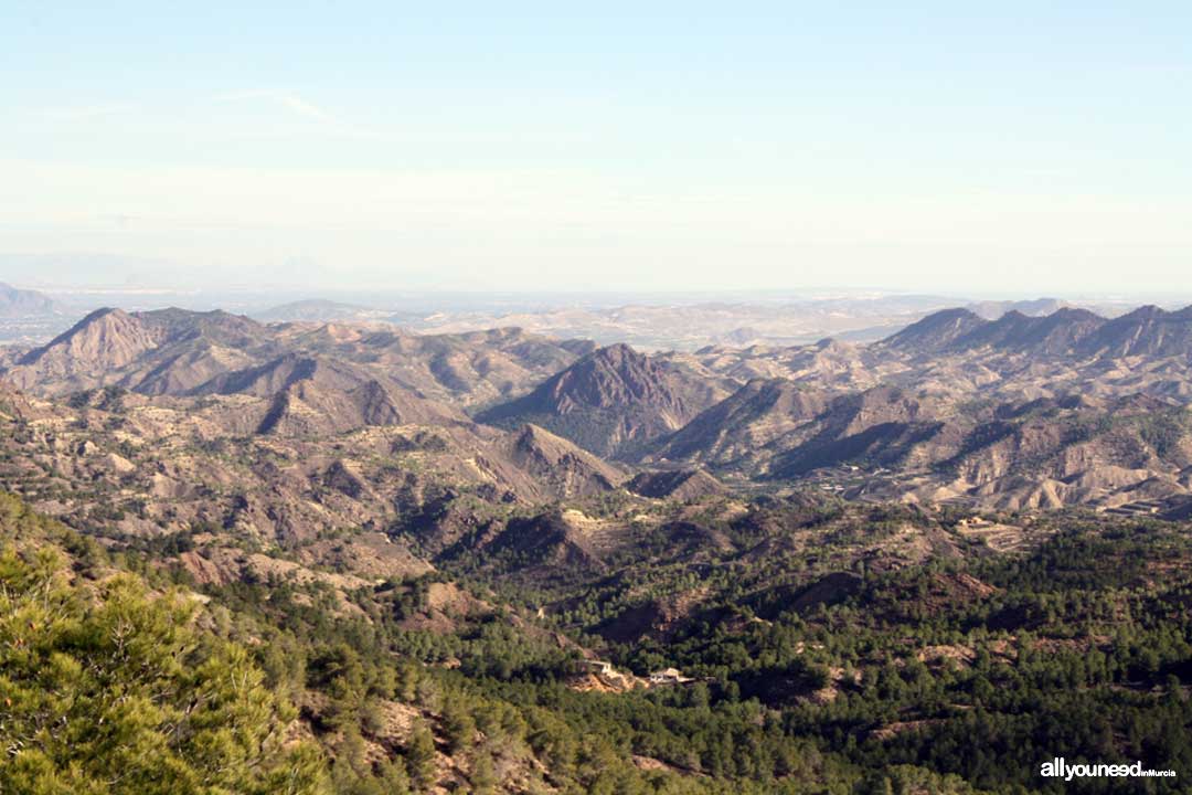
<path id="1" fill-rule="evenodd" d="M 1026 745 L 952 750 L 1192 753 L 1190 350 L 1153 308 L 664 353 L 100 310 L 4 354 L 0 485 L 24 559 L 248 642 L 325 791 L 1018 791 Z"/>

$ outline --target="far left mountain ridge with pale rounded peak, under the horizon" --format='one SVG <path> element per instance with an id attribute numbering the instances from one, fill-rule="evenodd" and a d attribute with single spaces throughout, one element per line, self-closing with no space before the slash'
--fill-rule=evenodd
<path id="1" fill-rule="evenodd" d="M 319 367 L 348 373 L 343 380 L 353 385 L 375 380 L 465 409 L 526 392 L 590 350 L 590 343 L 516 329 L 415 336 L 392 327 L 262 325 L 218 311 L 99 310 L 23 354 L 4 375 L 46 397 L 99 386 L 266 397 L 300 379 L 296 367 Z"/>

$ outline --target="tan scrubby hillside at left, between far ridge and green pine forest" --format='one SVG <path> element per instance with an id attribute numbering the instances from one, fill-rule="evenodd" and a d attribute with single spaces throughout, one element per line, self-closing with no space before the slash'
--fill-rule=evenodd
<path id="1" fill-rule="evenodd" d="M 63 405 L 10 391 L 0 395 L 0 483 L 77 528 L 128 538 L 225 528 L 266 548 L 305 549 L 343 528 L 397 527 L 445 495 L 503 514 L 625 478 L 541 429 L 446 422 L 449 409 L 430 402 L 416 406 L 439 412 L 429 424 L 398 416 L 408 406 L 370 384 L 328 393 L 299 381 L 281 396 L 274 412 L 269 399 L 242 395 L 106 390 Z M 406 571 L 403 547 L 386 549 L 391 573 Z"/>

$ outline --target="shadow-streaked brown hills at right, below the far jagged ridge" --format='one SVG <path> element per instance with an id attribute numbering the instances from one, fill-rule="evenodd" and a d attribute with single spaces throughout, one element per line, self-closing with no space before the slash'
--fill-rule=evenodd
<path id="1" fill-rule="evenodd" d="M 867 499 L 1116 509 L 1192 493 L 1192 421 L 1159 398 L 956 405 L 880 387 L 825 400 L 753 381 L 665 440 L 648 461 L 731 482 L 811 480 Z"/>

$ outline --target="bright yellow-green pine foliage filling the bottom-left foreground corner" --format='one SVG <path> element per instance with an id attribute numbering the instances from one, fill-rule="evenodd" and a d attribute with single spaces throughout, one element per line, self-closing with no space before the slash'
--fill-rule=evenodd
<path id="1" fill-rule="evenodd" d="M 317 750 L 284 741 L 292 707 L 246 648 L 198 628 L 193 600 L 85 580 L 48 539 L 27 544 L 64 530 L 7 497 L 0 511 L 26 539 L 0 552 L 0 791 L 328 791 Z"/>

